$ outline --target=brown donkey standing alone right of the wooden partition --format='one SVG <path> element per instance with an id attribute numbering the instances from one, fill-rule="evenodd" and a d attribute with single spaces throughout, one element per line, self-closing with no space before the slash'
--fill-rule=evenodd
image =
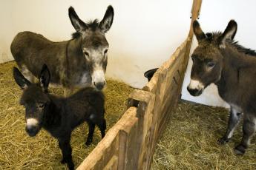
<path id="1" fill-rule="evenodd" d="M 243 138 L 234 152 L 244 154 L 256 128 L 256 52 L 234 41 L 237 32 L 234 20 L 229 21 L 223 33 L 205 34 L 198 21 L 194 21 L 193 29 L 198 46 L 191 55 L 188 92 L 198 96 L 209 84 L 217 85 L 220 97 L 231 107 L 228 128 L 218 142 L 229 142 L 243 117 Z"/>

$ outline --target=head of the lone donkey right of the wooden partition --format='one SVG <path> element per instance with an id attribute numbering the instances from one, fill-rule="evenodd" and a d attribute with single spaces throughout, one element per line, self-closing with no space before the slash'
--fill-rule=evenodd
<path id="1" fill-rule="evenodd" d="M 229 21 L 224 33 L 203 33 L 198 21 L 193 23 L 194 35 L 198 46 L 191 55 L 193 66 L 191 81 L 187 89 L 191 95 L 201 95 L 203 89 L 211 83 L 217 83 L 223 69 L 223 54 L 226 43 L 232 41 L 237 32 L 237 23 Z"/>

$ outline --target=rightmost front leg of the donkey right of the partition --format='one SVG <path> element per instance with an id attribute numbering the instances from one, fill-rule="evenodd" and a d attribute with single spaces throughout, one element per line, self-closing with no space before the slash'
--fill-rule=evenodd
<path id="1" fill-rule="evenodd" d="M 243 120 L 243 138 L 238 146 L 234 148 L 236 154 L 244 154 L 250 143 L 250 137 L 255 133 L 255 118 L 245 115 Z"/>

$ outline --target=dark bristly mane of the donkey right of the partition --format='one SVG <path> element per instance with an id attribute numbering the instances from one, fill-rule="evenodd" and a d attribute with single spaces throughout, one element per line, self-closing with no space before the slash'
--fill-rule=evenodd
<path id="1" fill-rule="evenodd" d="M 206 33 L 206 41 L 218 45 L 220 43 L 219 38 L 221 35 L 221 32 Z M 232 47 L 237 49 L 238 52 L 242 52 L 246 55 L 256 56 L 255 50 L 241 46 L 238 44 L 238 41 L 228 40 L 227 42 L 232 45 Z"/>

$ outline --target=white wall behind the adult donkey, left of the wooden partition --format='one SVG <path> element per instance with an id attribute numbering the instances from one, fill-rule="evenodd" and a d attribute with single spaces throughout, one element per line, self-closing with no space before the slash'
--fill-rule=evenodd
<path id="1" fill-rule="evenodd" d="M 142 87 L 143 73 L 160 67 L 186 39 L 192 0 L 8 0 L 0 1 L 0 62 L 13 59 L 10 43 L 16 33 L 30 30 L 52 41 L 70 38 L 72 5 L 82 20 L 103 18 L 108 4 L 114 23 L 106 34 L 110 44 L 107 75 Z"/>

